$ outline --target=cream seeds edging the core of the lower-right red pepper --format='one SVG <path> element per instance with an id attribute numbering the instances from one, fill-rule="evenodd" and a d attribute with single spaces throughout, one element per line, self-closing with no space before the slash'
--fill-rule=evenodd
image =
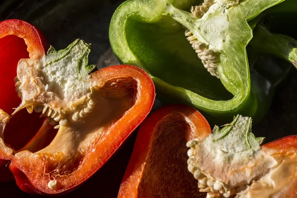
<path id="1" fill-rule="evenodd" d="M 223 182 L 215 180 L 209 175 L 204 174 L 199 170 L 196 165 L 196 146 L 197 140 L 190 140 L 187 143 L 188 150 L 188 170 L 194 175 L 194 178 L 198 180 L 199 192 L 207 192 L 207 198 L 220 198 L 221 195 L 224 198 L 229 198 L 236 193 L 235 188 L 229 189 Z"/>

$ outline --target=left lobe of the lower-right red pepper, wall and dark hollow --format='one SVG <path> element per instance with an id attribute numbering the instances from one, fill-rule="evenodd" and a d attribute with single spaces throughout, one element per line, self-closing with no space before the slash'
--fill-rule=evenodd
<path id="1" fill-rule="evenodd" d="M 197 183 L 187 170 L 187 138 L 211 134 L 193 107 L 171 104 L 141 124 L 118 198 L 195 198 Z"/>

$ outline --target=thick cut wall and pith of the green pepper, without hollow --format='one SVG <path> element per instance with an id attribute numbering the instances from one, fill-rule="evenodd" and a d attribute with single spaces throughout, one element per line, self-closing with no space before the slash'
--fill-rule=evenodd
<path id="1" fill-rule="evenodd" d="M 211 117 L 220 117 L 222 121 L 224 118 L 229 120 L 233 115 L 239 113 L 251 116 L 257 121 L 265 115 L 269 108 L 273 88 L 269 81 L 258 74 L 252 77 L 251 86 L 246 46 L 252 39 L 252 30 L 247 20 L 255 18 L 263 10 L 282 1 L 245 0 L 239 6 L 229 9 L 229 22 L 218 27 L 216 25 L 217 17 L 226 18 L 224 13 L 220 13 L 220 11 L 210 15 L 207 20 L 196 20 L 189 12 L 177 8 L 184 9 L 194 5 L 193 0 L 176 0 L 173 3 L 170 0 L 128 0 L 121 4 L 113 14 L 109 29 L 110 44 L 121 62 L 139 66 L 150 74 L 156 87 L 157 98 L 171 103 L 190 104 L 211 115 Z M 174 24 L 166 18 L 164 20 L 164 15 L 170 16 L 186 26 L 197 38 L 204 39 L 204 43 L 221 52 L 221 64 L 218 67 L 218 72 L 224 87 L 234 95 L 232 99 L 208 99 L 193 91 L 168 84 L 152 75 L 148 65 L 145 65 L 134 54 L 130 49 L 130 43 L 127 41 L 127 36 L 130 35 L 126 34 L 125 29 L 129 20 L 133 18 L 133 20 L 147 24 L 159 23 L 164 29 L 174 29 Z M 173 24 L 172 27 L 170 24 L 168 25 L 168 21 Z M 221 32 L 226 34 L 218 33 L 220 28 Z M 186 40 L 186 38 L 183 39 Z M 225 43 L 222 43 L 222 40 Z M 236 58 L 234 54 L 236 54 Z"/>

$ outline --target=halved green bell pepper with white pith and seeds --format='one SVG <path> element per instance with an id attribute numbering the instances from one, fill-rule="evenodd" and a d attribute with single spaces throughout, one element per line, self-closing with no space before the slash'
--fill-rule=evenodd
<path id="1" fill-rule="evenodd" d="M 291 68 L 247 58 L 248 22 L 282 1 L 128 0 L 113 14 L 110 44 L 121 62 L 149 73 L 159 99 L 224 122 L 237 113 L 259 121 Z"/>

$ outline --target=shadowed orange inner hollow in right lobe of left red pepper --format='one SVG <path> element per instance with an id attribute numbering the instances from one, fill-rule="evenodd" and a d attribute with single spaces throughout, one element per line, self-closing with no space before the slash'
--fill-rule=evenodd
<path id="1" fill-rule="evenodd" d="M 78 170 L 85 156 L 94 153 L 113 124 L 135 104 L 137 88 L 132 77 L 110 79 L 103 86 L 92 87 L 90 101 L 96 105 L 87 119 L 60 127 L 49 147 L 37 152 L 44 161 L 44 175 L 62 182 Z"/>

